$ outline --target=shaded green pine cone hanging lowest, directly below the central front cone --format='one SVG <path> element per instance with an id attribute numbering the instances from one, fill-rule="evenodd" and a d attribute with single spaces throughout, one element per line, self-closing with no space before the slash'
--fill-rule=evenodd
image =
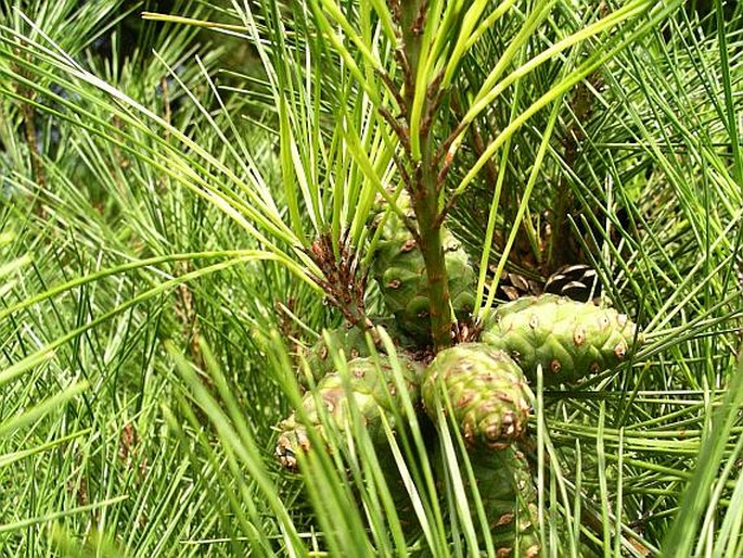
<path id="1" fill-rule="evenodd" d="M 537 493 L 528 462 L 515 445 L 470 455 L 477 491 L 490 524 L 496 556 L 536 558 Z"/>

